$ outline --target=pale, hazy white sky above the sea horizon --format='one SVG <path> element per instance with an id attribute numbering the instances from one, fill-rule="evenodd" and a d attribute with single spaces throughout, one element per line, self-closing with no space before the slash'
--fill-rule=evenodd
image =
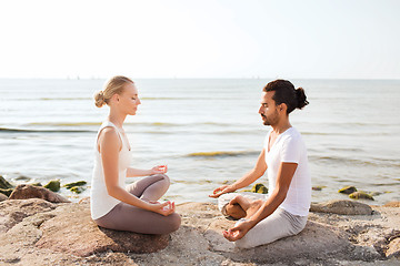
<path id="1" fill-rule="evenodd" d="M 0 0 L 0 78 L 400 79 L 398 0 Z"/>

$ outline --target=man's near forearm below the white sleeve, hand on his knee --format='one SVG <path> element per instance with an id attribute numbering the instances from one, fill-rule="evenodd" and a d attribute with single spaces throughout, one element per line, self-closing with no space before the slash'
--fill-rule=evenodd
<path id="1" fill-rule="evenodd" d="M 228 241 L 234 242 L 242 238 L 260 221 L 271 215 L 278 208 L 288 194 L 297 166 L 297 163 L 281 163 L 278 171 L 277 185 L 272 194 L 248 221 L 223 233 Z"/>

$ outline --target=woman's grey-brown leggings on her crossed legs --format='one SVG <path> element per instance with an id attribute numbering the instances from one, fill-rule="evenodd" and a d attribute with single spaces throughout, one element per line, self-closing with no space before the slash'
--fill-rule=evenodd
<path id="1" fill-rule="evenodd" d="M 167 192 L 169 185 L 167 175 L 157 174 L 128 185 L 127 191 L 147 202 L 158 201 Z M 177 231 L 181 218 L 177 213 L 163 216 L 121 202 L 108 214 L 94 219 L 94 223 L 109 229 L 162 235 Z"/>

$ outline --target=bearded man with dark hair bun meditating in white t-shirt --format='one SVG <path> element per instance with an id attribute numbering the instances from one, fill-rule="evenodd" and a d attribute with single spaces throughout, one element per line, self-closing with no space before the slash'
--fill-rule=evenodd
<path id="1" fill-rule="evenodd" d="M 223 236 L 240 248 L 250 248 L 299 234 L 307 224 L 311 202 L 311 178 L 307 149 L 300 133 L 291 126 L 289 114 L 308 104 L 304 90 L 290 81 L 276 80 L 263 88 L 261 114 L 272 130 L 253 170 L 232 185 L 223 185 L 210 197 L 246 187 L 268 171 L 269 196 L 250 217 L 224 231 Z"/>

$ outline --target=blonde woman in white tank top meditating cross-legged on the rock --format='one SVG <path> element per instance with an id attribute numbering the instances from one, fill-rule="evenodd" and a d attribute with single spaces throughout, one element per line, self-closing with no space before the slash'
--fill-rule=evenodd
<path id="1" fill-rule="evenodd" d="M 151 170 L 129 167 L 131 149 L 122 129 L 127 115 L 134 115 L 141 103 L 134 82 L 113 76 L 94 95 L 96 106 L 110 108 L 99 129 L 90 192 L 92 219 L 102 227 L 141 234 L 168 234 L 179 228 L 181 218 L 174 203 L 158 203 L 170 181 L 166 165 Z M 126 188 L 126 177 L 147 176 Z"/>

